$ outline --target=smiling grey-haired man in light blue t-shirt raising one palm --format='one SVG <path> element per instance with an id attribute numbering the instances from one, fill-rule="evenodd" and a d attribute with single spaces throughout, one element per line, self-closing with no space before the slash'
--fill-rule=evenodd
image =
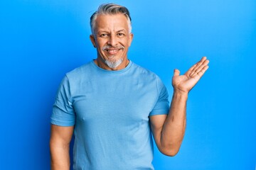
<path id="1" fill-rule="evenodd" d="M 169 108 L 156 74 L 128 60 L 132 43 L 129 11 L 104 4 L 92 14 L 90 40 L 97 59 L 66 74 L 53 106 L 52 169 L 154 169 L 151 132 L 160 152 L 174 156 L 186 127 L 188 92 L 208 69 L 203 57 L 184 75 L 174 70 Z"/>

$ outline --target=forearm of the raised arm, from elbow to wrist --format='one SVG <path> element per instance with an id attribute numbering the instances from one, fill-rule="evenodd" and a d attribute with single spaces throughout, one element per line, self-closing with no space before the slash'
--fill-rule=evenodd
<path id="1" fill-rule="evenodd" d="M 187 93 L 174 91 L 169 115 L 161 131 L 161 146 L 166 149 L 170 155 L 175 155 L 181 147 L 186 128 L 187 99 Z"/>

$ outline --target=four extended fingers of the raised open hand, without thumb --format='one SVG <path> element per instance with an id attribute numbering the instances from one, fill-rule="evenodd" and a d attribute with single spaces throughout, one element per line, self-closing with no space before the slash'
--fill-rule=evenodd
<path id="1" fill-rule="evenodd" d="M 202 57 L 202 59 L 190 69 L 189 77 L 194 77 L 198 74 L 199 77 L 202 77 L 203 74 L 208 69 L 209 60 L 206 57 Z"/>

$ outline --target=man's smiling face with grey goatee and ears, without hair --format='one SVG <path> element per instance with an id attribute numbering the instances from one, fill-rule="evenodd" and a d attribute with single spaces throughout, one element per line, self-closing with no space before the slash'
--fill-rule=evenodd
<path id="1" fill-rule="evenodd" d="M 123 69 L 133 35 L 129 33 L 127 18 L 123 14 L 100 15 L 95 21 L 95 35 L 90 35 L 97 47 L 97 62 L 107 69 Z"/>

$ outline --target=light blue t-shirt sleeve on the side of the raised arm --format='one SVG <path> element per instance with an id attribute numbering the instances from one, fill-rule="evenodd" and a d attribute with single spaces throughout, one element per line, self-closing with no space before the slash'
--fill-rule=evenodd
<path id="1" fill-rule="evenodd" d="M 166 86 L 164 86 L 163 82 L 161 81 L 161 79 L 159 79 L 159 77 L 157 77 L 158 79 L 156 79 L 156 88 L 159 91 L 159 98 L 156 101 L 156 104 L 153 108 L 153 110 L 151 111 L 151 113 L 149 114 L 149 116 L 151 115 L 167 115 L 169 113 L 169 95 L 168 95 L 168 91 L 166 89 Z"/>

